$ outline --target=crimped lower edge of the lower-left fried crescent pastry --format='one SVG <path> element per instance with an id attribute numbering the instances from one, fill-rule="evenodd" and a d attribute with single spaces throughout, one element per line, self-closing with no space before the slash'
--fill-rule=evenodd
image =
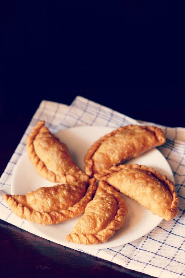
<path id="1" fill-rule="evenodd" d="M 89 179 L 87 183 L 88 188 L 85 195 L 72 207 L 59 212 L 52 211 L 51 213 L 47 213 L 32 210 L 26 206 L 23 206 L 22 204 L 18 204 L 14 200 L 13 196 L 9 194 L 3 194 L 3 198 L 8 204 L 9 209 L 18 217 L 42 225 L 53 225 L 79 216 L 84 212 L 86 205 L 92 200 L 97 189 L 95 178 Z"/>

